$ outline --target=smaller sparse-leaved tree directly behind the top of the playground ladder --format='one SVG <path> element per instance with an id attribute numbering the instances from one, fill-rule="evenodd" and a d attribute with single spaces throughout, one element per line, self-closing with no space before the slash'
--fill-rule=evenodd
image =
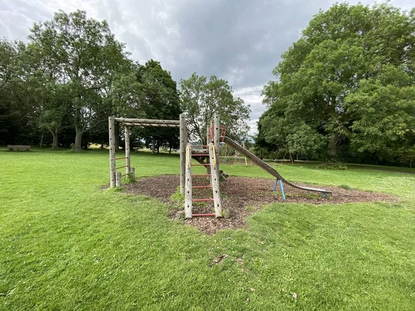
<path id="1" fill-rule="evenodd" d="M 247 137 L 250 106 L 234 97 L 232 87 L 224 79 L 193 73 L 189 79 L 181 80 L 180 93 L 193 139 L 206 144 L 206 131 L 215 113 L 233 138 L 244 140 Z"/>

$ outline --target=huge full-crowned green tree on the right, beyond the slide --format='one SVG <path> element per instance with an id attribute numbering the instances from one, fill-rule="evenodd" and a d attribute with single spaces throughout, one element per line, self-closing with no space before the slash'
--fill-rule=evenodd
<path id="1" fill-rule="evenodd" d="M 261 138 L 328 158 L 339 156 L 342 144 L 356 152 L 411 147 L 414 16 L 385 3 L 337 3 L 315 15 L 264 88 Z M 367 124 L 383 138 L 376 148 Z"/>

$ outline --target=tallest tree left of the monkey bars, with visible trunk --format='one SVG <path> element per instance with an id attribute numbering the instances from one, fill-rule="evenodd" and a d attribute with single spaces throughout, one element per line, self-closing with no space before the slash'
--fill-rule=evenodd
<path id="1" fill-rule="evenodd" d="M 39 68 L 67 86 L 66 95 L 73 107 L 75 151 L 80 151 L 82 135 L 105 122 L 102 116 L 114 111 L 109 92 L 120 71 L 128 68 L 124 46 L 106 21 L 88 19 L 80 10 L 70 14 L 59 11 L 53 19 L 35 23 L 29 39 L 37 51 Z"/>

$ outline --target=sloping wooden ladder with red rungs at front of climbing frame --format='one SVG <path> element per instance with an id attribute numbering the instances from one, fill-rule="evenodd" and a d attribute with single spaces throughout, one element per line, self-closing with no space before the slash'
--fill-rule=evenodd
<path id="1" fill-rule="evenodd" d="M 200 148 L 203 149 L 200 149 Z M 199 163 L 192 163 L 192 158 L 198 158 Z M 203 162 L 203 160 L 207 160 Z M 215 216 L 222 217 L 221 193 L 219 191 L 219 172 L 216 165 L 219 159 L 216 159 L 214 152 L 214 144 L 210 143 L 206 146 L 192 146 L 187 144 L 186 148 L 186 182 L 185 182 L 185 218 L 192 218 L 194 216 Z M 210 173 L 193 174 L 192 167 L 210 167 Z M 208 177 L 210 178 L 210 185 L 193 186 L 192 178 L 194 177 Z M 193 189 L 212 189 L 212 198 L 193 198 Z M 193 214 L 193 202 L 213 202 L 214 213 L 210 214 Z"/>

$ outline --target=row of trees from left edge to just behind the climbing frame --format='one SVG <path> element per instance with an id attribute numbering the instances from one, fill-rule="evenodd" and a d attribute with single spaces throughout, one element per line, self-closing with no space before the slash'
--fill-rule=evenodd
<path id="1" fill-rule="evenodd" d="M 72 147 L 108 144 L 108 117 L 190 122 L 192 140 L 206 140 L 214 113 L 234 138 L 248 133 L 250 109 L 224 79 L 194 73 L 180 90 L 159 62 L 133 62 L 106 21 L 59 11 L 35 23 L 27 44 L 0 41 L 0 144 Z M 179 96 L 182 94 L 182 98 Z M 122 129 L 117 145 L 122 145 Z M 178 130 L 131 129 L 132 147 L 178 148 Z"/>

